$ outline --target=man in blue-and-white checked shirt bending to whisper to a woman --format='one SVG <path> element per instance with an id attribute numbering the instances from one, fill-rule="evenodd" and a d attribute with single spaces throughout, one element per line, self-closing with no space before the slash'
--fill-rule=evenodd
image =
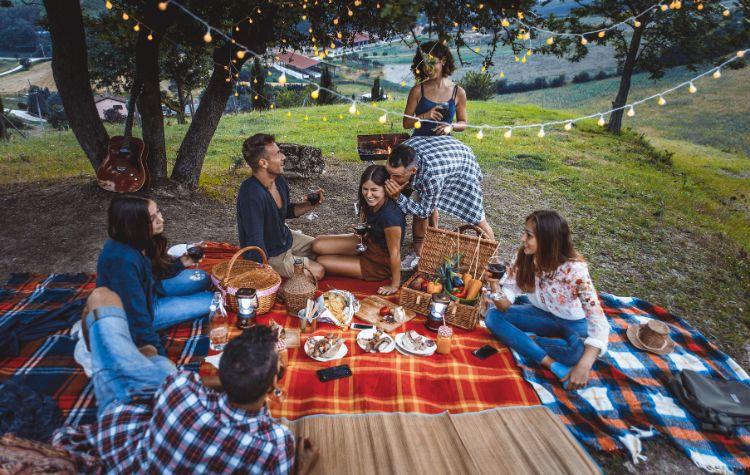
<path id="1" fill-rule="evenodd" d="M 414 216 L 414 253 L 402 267 L 411 270 L 419 262 L 427 218 L 437 225 L 437 210 L 479 226 L 490 239 L 495 235 L 484 216 L 482 170 L 474 152 L 449 136 L 412 137 L 391 152 L 385 165 L 391 179 L 385 190 L 405 214 Z M 419 198 L 411 199 L 402 190 L 411 187 Z"/>

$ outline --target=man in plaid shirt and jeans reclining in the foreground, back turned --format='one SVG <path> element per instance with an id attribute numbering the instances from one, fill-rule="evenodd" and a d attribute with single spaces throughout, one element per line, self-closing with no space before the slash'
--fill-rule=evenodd
<path id="1" fill-rule="evenodd" d="M 266 396 L 283 373 L 269 327 L 255 326 L 226 346 L 219 363 L 225 393 L 219 393 L 207 389 L 195 373 L 174 372 L 155 348 L 137 348 L 114 292 L 94 290 L 87 309 L 82 329 L 92 353 L 99 420 L 53 435 L 53 445 L 68 450 L 79 469 L 292 471 L 294 437 L 266 408 Z M 317 450 L 308 440 L 298 449 L 298 470 L 306 473 L 317 461 Z"/>

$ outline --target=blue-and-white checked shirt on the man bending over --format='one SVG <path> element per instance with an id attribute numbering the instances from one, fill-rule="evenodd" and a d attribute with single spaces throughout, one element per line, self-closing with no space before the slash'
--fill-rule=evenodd
<path id="1" fill-rule="evenodd" d="M 411 182 L 419 202 L 402 194 L 396 202 L 401 211 L 426 218 L 440 209 L 469 224 L 484 219 L 482 170 L 467 145 L 451 136 L 412 137 L 404 144 L 419 156 Z"/>

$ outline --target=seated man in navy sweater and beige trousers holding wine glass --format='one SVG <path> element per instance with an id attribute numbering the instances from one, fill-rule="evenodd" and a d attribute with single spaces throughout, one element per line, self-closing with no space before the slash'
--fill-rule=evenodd
<path id="1" fill-rule="evenodd" d="M 290 203 L 289 185 L 283 177 L 286 157 L 273 135 L 255 134 L 242 145 L 242 156 L 253 170 L 253 176 L 240 186 L 237 195 L 237 233 L 240 246 L 257 246 L 266 253 L 268 262 L 282 277 L 294 273 L 294 259 L 302 258 L 316 278 L 325 275 L 323 266 L 315 262 L 312 242 L 315 238 L 300 231 L 292 232 L 285 220 L 297 218 L 323 202 L 320 190 L 317 203 Z M 257 252 L 248 252 L 246 259 L 260 261 Z"/>

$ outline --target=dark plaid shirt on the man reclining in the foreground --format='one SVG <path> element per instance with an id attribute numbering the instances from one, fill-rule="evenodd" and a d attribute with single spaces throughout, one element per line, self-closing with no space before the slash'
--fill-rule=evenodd
<path id="1" fill-rule="evenodd" d="M 79 466 L 117 473 L 290 473 L 294 436 L 265 407 L 232 407 L 207 390 L 196 373 L 166 378 L 154 407 L 112 405 L 99 422 L 59 429 L 56 447 Z M 100 462 L 97 461 L 100 460 Z"/>

